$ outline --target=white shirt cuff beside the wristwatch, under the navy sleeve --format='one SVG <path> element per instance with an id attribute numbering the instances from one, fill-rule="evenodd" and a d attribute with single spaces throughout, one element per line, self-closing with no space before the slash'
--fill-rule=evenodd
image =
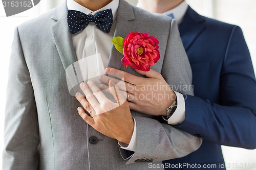
<path id="1" fill-rule="evenodd" d="M 177 108 L 174 114 L 170 116 L 170 118 L 168 118 L 168 124 L 179 125 L 185 120 L 185 113 L 186 113 L 185 100 L 184 100 L 184 96 L 181 93 L 176 91 L 174 92 L 177 98 Z"/>

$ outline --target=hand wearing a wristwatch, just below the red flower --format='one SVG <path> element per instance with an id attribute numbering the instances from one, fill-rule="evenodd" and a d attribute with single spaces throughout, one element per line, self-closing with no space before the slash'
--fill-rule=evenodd
<path id="1" fill-rule="evenodd" d="M 149 115 L 166 116 L 167 108 L 176 99 L 174 91 L 159 72 L 153 69 L 147 72 L 136 71 L 147 78 L 134 76 L 114 68 L 106 68 L 106 74 L 118 79 L 100 76 L 99 80 L 103 83 L 114 80 L 121 90 L 121 94 L 129 102 L 130 109 Z M 108 89 L 108 86 L 104 84 L 101 84 L 100 87 Z"/>

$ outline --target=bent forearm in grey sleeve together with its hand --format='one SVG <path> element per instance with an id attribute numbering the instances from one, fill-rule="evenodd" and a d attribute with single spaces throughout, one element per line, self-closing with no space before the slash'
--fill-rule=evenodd
<path id="1" fill-rule="evenodd" d="M 186 156 L 196 151 L 202 140 L 167 124 L 160 124 L 153 118 L 134 116 L 136 132 L 129 104 L 123 98 L 114 80 L 109 81 L 110 92 L 116 102 L 108 99 L 92 81 L 81 83 L 81 93 L 76 93 L 76 99 L 91 115 L 81 107 L 78 113 L 90 126 L 105 136 L 115 138 L 122 143 L 129 144 L 133 133 L 136 133 L 135 153 L 127 157 L 124 150 L 121 155 L 129 159 L 126 164 L 150 161 L 162 161 Z"/>

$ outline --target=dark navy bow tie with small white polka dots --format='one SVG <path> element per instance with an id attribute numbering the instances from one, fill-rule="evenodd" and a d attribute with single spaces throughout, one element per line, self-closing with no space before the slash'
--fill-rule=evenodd
<path id="1" fill-rule="evenodd" d="M 109 33 L 113 22 L 113 14 L 111 9 L 99 11 L 95 15 L 68 10 L 67 20 L 72 35 L 85 29 L 89 22 L 94 22 L 101 31 Z"/>

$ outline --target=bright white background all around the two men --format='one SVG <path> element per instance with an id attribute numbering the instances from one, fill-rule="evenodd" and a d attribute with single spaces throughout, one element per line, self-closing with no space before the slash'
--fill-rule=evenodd
<path id="1" fill-rule="evenodd" d="M 6 17 L 2 3 L 0 3 L 0 151 L 3 150 L 5 98 L 8 79 L 8 64 L 11 52 L 13 30 L 20 23 L 44 13 L 48 9 L 65 0 L 41 0 L 34 8 Z M 136 0 L 127 0 L 136 4 Z M 240 26 L 247 41 L 254 68 L 256 68 L 256 1 L 255 0 L 187 0 L 196 11 L 202 15 L 213 17 Z M 256 69 L 255 69 L 256 71 Z M 256 102 L 256 101 L 255 101 Z M 223 147 L 226 163 L 256 163 L 256 150 L 245 150 Z M 2 169 L 2 154 L 0 154 L 0 169 Z M 242 168 L 228 168 L 242 169 Z M 252 170 L 252 168 L 243 168 Z M 253 170 L 255 170 L 254 168 Z"/>

